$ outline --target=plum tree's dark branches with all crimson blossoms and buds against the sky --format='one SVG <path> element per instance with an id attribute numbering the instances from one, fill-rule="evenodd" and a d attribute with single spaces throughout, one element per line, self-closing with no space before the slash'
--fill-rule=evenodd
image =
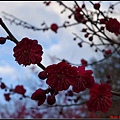
<path id="1" fill-rule="evenodd" d="M 52 5 L 52 2 L 53 1 L 45 1 L 43 4 L 49 6 Z M 41 63 L 44 54 L 42 44 L 38 44 L 38 40 L 28 37 L 24 37 L 22 40 L 17 40 L 9 30 L 8 26 L 6 26 L 4 20 L 0 18 L 0 24 L 8 34 L 7 37 L 0 37 L 0 44 L 4 45 L 6 40 L 14 42 L 13 56 L 17 64 L 23 65 L 24 67 L 29 65 L 39 66 L 42 71 L 39 72 L 38 78 L 45 81 L 48 86 L 46 89 L 40 87 L 33 91 L 30 96 L 26 96 L 26 89 L 24 86 L 17 85 L 15 88 L 9 88 L 1 81 L 1 89 L 9 89 L 9 93 L 4 94 L 5 99 L 9 101 L 11 99 L 10 96 L 13 93 L 18 93 L 21 94 L 23 98 L 27 97 L 33 101 L 37 101 L 36 104 L 38 106 L 41 106 L 44 103 L 50 106 L 55 106 L 57 105 L 57 96 L 59 96 L 61 92 L 64 93 L 67 91 L 65 96 L 71 96 L 70 98 L 73 98 L 75 95 L 76 99 L 71 99 L 71 101 L 77 103 L 77 101 L 82 101 L 83 99 L 80 93 L 87 91 L 89 99 L 84 99 L 84 104 L 86 104 L 87 109 L 91 112 L 107 113 L 112 106 L 113 95 L 120 96 L 120 93 L 113 91 L 112 86 L 108 82 L 96 82 L 93 70 L 88 70 L 87 66 L 96 65 L 108 59 L 114 53 L 117 53 L 118 56 L 120 55 L 119 40 L 113 39 L 107 33 L 109 32 L 109 34 L 111 33 L 116 37 L 119 37 L 120 22 L 117 18 L 109 16 L 109 14 L 113 13 L 115 5 L 119 4 L 119 2 L 110 5 L 108 11 L 105 12 L 102 11 L 102 3 L 100 2 L 94 3 L 89 1 L 93 6 L 93 11 L 88 9 L 85 2 L 80 4 L 77 1 L 73 1 L 73 8 L 67 6 L 62 1 L 56 2 L 64 7 L 61 14 L 65 14 L 66 10 L 71 12 L 71 14 L 68 15 L 68 19 L 73 18 L 75 23 L 65 21 L 61 26 L 56 23 L 48 26 L 44 22 L 42 24 L 42 26 L 45 26 L 44 28 L 37 28 L 14 16 L 11 17 L 5 12 L 3 13 L 5 15 L 4 18 L 16 25 L 20 25 L 33 31 L 47 32 L 48 30 L 52 30 L 56 34 L 58 34 L 60 28 L 74 27 L 74 25 L 82 26 L 81 32 L 84 34 L 85 39 L 88 40 L 84 40 L 76 33 L 73 33 L 73 40 L 76 41 L 78 39 L 80 41 L 78 43 L 80 48 L 83 47 L 83 43 L 90 45 L 91 49 L 95 48 L 96 54 L 97 52 L 101 52 L 104 58 L 93 63 L 89 63 L 86 59 L 81 59 L 81 64 L 79 65 L 71 63 L 65 59 L 61 60 L 55 58 L 60 60 L 60 62 L 45 67 Z M 99 44 L 94 40 L 96 37 L 99 40 Z M 82 104 L 82 102 L 80 104 Z"/>

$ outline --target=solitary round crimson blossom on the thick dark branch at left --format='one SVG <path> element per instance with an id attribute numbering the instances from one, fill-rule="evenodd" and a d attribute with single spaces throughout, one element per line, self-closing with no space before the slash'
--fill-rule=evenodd
<path id="1" fill-rule="evenodd" d="M 18 64 L 27 66 L 30 64 L 38 64 L 42 60 L 42 46 L 38 44 L 37 40 L 25 37 L 17 43 L 13 51 Z"/>

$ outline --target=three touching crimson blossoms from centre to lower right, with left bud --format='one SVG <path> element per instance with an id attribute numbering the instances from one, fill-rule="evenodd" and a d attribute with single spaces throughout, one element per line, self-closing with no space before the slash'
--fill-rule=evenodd
<path id="1" fill-rule="evenodd" d="M 46 79 L 49 87 L 56 91 L 67 90 L 70 86 L 75 93 L 90 89 L 91 97 L 87 103 L 88 109 L 95 112 L 107 112 L 112 105 L 111 87 L 107 83 L 100 85 L 95 83 L 92 73 L 92 70 L 85 70 L 85 66 L 75 67 L 67 62 L 60 62 L 48 66 L 38 74 L 38 77 L 42 80 Z M 33 93 L 33 95 L 35 94 L 37 95 L 36 92 Z M 43 94 L 43 90 L 39 91 L 39 94 Z M 45 97 L 42 98 L 45 101 Z"/>

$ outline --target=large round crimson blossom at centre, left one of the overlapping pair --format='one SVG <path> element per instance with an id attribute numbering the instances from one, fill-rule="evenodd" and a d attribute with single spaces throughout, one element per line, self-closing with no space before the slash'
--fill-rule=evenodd
<path id="1" fill-rule="evenodd" d="M 77 72 L 66 62 L 50 65 L 46 68 L 46 83 L 55 90 L 67 90 L 70 81 L 76 79 Z"/>

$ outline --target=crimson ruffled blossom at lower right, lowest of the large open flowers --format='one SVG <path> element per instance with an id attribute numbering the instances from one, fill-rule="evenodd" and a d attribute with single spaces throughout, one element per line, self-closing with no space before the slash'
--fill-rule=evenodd
<path id="1" fill-rule="evenodd" d="M 112 105 L 111 86 L 107 83 L 97 84 L 90 89 L 90 100 L 87 103 L 88 109 L 94 112 L 107 112 Z"/>

